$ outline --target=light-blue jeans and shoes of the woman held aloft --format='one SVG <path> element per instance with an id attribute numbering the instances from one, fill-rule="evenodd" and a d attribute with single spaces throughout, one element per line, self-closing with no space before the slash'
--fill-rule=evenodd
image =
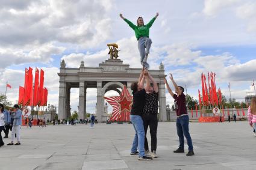
<path id="1" fill-rule="evenodd" d="M 148 62 L 143 62 L 146 53 L 149 54 L 149 49 L 151 47 L 152 41 L 151 38 L 148 37 L 140 37 L 138 40 L 138 49 L 140 52 L 140 63 L 145 66 L 145 68 L 149 68 Z"/>

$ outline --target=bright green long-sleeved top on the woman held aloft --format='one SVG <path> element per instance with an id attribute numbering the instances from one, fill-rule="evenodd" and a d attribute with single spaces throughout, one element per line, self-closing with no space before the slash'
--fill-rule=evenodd
<path id="1" fill-rule="evenodd" d="M 153 17 L 153 19 L 151 19 L 151 21 L 149 21 L 147 25 L 143 25 L 143 26 L 134 25 L 128 19 L 124 19 L 124 20 L 126 23 L 128 23 L 128 25 L 131 28 L 133 28 L 133 30 L 135 31 L 135 36 L 137 40 L 139 40 L 140 37 L 149 37 L 149 28 L 151 28 L 152 24 L 154 23 L 155 17 Z"/>

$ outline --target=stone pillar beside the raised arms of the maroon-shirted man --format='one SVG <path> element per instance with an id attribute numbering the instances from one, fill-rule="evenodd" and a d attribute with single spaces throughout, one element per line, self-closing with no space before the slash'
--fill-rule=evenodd
<path id="1" fill-rule="evenodd" d="M 159 83 L 159 120 L 167 121 L 166 115 L 166 97 L 165 97 L 165 84 L 164 80 L 161 79 Z"/>

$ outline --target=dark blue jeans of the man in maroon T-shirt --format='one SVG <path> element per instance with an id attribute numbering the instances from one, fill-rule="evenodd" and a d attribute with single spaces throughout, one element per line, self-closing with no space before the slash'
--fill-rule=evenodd
<path id="1" fill-rule="evenodd" d="M 184 136 L 187 139 L 187 145 L 189 145 L 189 151 L 193 150 L 192 139 L 189 134 L 189 116 L 183 116 L 176 120 L 177 134 L 180 140 L 180 148 L 184 149 Z"/>

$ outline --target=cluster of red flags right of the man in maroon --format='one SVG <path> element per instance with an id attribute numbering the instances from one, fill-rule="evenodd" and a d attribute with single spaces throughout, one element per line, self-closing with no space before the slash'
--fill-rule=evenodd
<path id="1" fill-rule="evenodd" d="M 216 83 L 215 83 L 215 76 L 216 74 L 208 72 L 208 87 L 206 83 L 205 74 L 201 74 L 201 83 L 202 83 L 202 99 L 200 90 L 198 90 L 198 98 L 199 98 L 199 105 L 208 106 L 208 105 L 221 105 L 222 103 L 222 94 L 220 88 L 216 91 Z M 219 95 L 219 99 L 218 99 Z"/>

